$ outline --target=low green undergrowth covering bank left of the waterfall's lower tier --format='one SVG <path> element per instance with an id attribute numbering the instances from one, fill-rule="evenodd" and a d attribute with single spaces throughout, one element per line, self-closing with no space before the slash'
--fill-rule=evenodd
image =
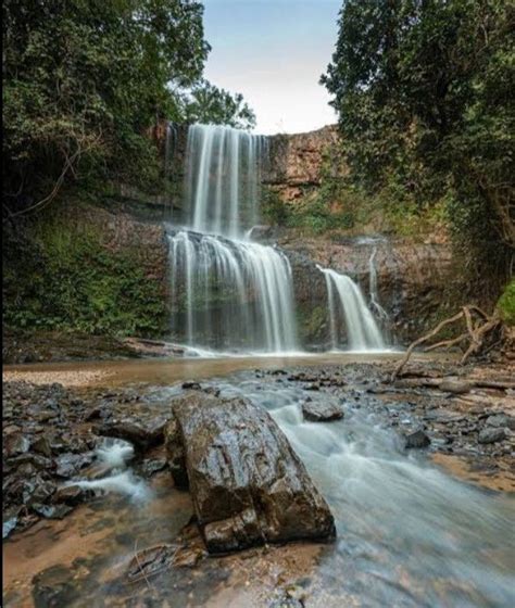
<path id="1" fill-rule="evenodd" d="M 4 231 L 3 320 L 16 329 L 152 335 L 166 322 L 162 284 L 137 252 L 112 252 L 85 227 L 46 221 Z"/>

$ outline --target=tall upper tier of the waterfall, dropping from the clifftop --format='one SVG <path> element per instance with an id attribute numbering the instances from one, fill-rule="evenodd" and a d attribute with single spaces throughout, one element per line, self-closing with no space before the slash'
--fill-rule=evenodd
<path id="1" fill-rule="evenodd" d="M 266 138 L 218 125 L 191 125 L 186 148 L 186 224 L 242 237 L 259 220 Z"/>

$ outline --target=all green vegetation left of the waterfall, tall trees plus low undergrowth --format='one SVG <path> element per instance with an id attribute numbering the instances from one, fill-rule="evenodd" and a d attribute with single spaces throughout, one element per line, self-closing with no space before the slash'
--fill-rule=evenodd
<path id="1" fill-rule="evenodd" d="M 113 185 L 163 191 L 162 151 L 151 137 L 163 119 L 254 124 L 241 94 L 202 76 L 210 51 L 202 16 L 193 0 L 4 2 L 8 327 L 165 329 L 164 281 L 140 252 L 112 251 L 102 226 L 70 220 L 83 219 L 85 201 L 108 201 Z M 60 214 L 64 207 L 74 211 Z"/>

